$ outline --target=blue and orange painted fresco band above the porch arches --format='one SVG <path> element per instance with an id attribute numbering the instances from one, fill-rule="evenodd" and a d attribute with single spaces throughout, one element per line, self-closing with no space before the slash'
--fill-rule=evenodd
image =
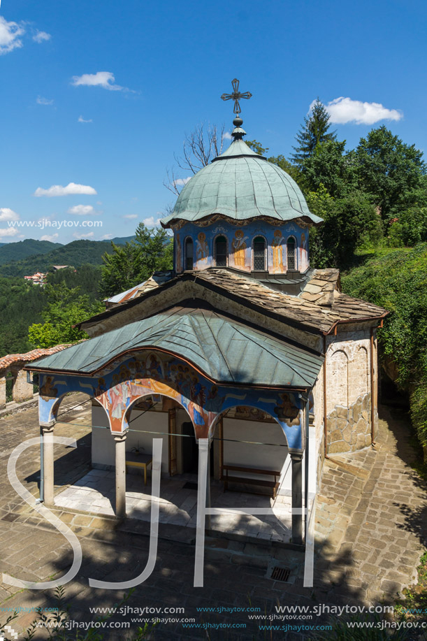
<path id="1" fill-rule="evenodd" d="M 225 410 L 253 408 L 252 417 L 276 419 L 287 438 L 289 448 L 302 447 L 301 401 L 291 391 L 233 387 L 215 384 L 186 362 L 175 356 L 157 352 L 140 352 L 123 360 L 113 361 L 99 376 L 40 374 L 41 424 L 55 419 L 62 396 L 69 391 L 82 391 L 95 398 L 108 415 L 112 433 L 128 427 L 126 412 L 144 396 L 157 401 L 171 398 L 187 411 L 194 425 L 196 438 L 212 435 L 215 423 Z M 155 396 L 158 395 L 158 396 Z M 149 403 L 150 401 L 147 401 Z M 242 416 L 243 417 L 243 416 Z"/>

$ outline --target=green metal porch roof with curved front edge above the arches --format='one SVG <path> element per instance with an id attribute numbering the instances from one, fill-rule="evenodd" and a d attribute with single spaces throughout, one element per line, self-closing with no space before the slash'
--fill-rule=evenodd
<path id="1" fill-rule="evenodd" d="M 312 387 L 324 360 L 212 309 L 175 307 L 33 361 L 31 370 L 90 375 L 139 347 L 182 356 L 216 382 L 250 385 Z"/>

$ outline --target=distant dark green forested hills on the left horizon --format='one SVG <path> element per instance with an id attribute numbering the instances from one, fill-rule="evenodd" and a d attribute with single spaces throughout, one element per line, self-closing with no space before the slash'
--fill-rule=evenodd
<path id="1" fill-rule="evenodd" d="M 124 245 L 126 241 L 132 240 L 133 236 L 129 238 L 113 238 L 113 243 L 117 245 Z M 25 243 L 26 241 L 23 241 Z M 33 240 L 33 243 L 43 243 L 45 241 Z M 110 254 L 113 252 L 111 247 L 111 240 L 73 240 L 68 245 L 58 245 L 53 250 L 43 252 L 40 250 L 38 253 L 31 256 L 26 256 L 20 260 L 8 260 L 7 263 L 1 260 L 1 252 L 8 249 L 10 245 L 22 245 L 23 243 L 10 243 L 10 245 L 3 245 L 0 247 L 0 275 L 2 276 L 29 276 L 37 271 L 46 272 L 52 265 L 71 265 L 73 267 L 80 267 L 82 265 L 101 265 L 102 255 L 106 252 Z M 50 243 L 51 245 L 57 243 Z M 36 245 L 39 247 L 39 245 Z M 19 252 L 15 252 L 19 255 Z"/>

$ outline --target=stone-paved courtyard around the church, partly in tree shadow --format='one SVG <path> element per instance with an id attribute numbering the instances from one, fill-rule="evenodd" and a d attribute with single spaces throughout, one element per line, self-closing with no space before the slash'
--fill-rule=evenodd
<path id="1" fill-rule="evenodd" d="M 138 575 L 147 563 L 150 523 L 143 518 L 128 518 L 122 523 L 113 517 L 101 517 L 103 507 L 108 508 L 108 473 L 94 470 L 90 474 L 90 404 L 82 403 L 87 397 L 73 394 L 61 404 L 62 414 L 55 426 L 55 435 L 73 436 L 78 448 L 55 445 L 55 496 L 66 507 L 59 507 L 56 514 L 78 536 L 82 545 L 83 561 L 78 576 L 66 584 L 66 603 L 69 603 L 72 621 L 91 621 L 96 614 L 89 608 L 101 605 L 112 606 L 122 598 L 123 591 L 89 588 L 88 578 L 104 581 L 126 581 Z M 427 484 L 411 467 L 416 452 L 408 443 L 407 418 L 398 410 L 380 407 L 379 435 L 375 447 L 362 452 L 325 462 L 324 476 L 317 497 L 315 529 L 316 553 L 314 559 L 314 585 L 303 587 L 304 554 L 284 547 L 273 535 L 262 536 L 265 524 L 255 531 L 248 531 L 246 521 L 234 523 L 235 534 L 226 538 L 217 535 L 207 537 L 205 546 L 204 586 L 193 586 L 194 575 L 194 528 L 188 527 L 193 517 L 196 492 L 189 490 L 180 495 L 178 511 L 170 507 L 168 517 L 160 517 L 157 563 L 147 581 L 136 587 L 126 605 L 129 607 L 184 607 L 184 613 L 160 614 L 160 617 L 175 618 L 175 622 L 159 624 L 154 628 L 154 640 L 185 639 L 230 639 L 244 640 L 264 638 L 283 639 L 283 632 L 259 630 L 259 624 L 270 621 L 255 621 L 247 612 L 203 612 L 201 607 L 260 607 L 260 614 L 275 614 L 279 605 L 371 605 L 393 603 L 398 592 L 416 582 L 419 558 L 426 549 L 427 533 Z M 51 580 L 64 575 L 71 566 L 70 545 L 50 524 L 31 510 L 27 503 L 15 494 L 8 482 L 6 466 L 10 452 L 27 438 L 38 436 L 38 411 L 29 408 L 18 414 L 0 419 L 2 424 L 2 451 L 0 454 L 0 541 L 1 571 L 22 579 Z M 66 421 L 66 422 L 61 422 Z M 38 497 L 39 449 L 27 450 L 17 463 L 17 475 L 24 487 Z M 85 481 L 80 481 L 82 477 Z M 91 481 L 93 479 L 92 488 Z M 78 513 L 66 503 L 69 486 L 81 488 L 74 496 L 85 497 L 85 492 L 95 496 L 99 478 L 103 478 L 105 505 L 94 504 L 91 514 Z M 98 480 L 96 480 L 98 478 Z M 169 483 L 178 487 L 177 477 Z M 184 480 L 185 481 L 185 480 Z M 79 486 L 80 483 L 80 486 Z M 89 483 L 89 485 L 88 485 Z M 145 500 L 145 504 L 128 506 L 147 510 L 148 498 L 140 497 L 136 484 L 143 487 L 140 476 L 127 475 L 129 500 Z M 180 480 L 182 483 L 182 477 Z M 130 484 L 130 485 L 129 485 Z M 161 480 L 168 484 L 168 480 Z M 65 487 L 65 489 L 64 489 Z M 67 489 L 68 487 L 68 489 Z M 169 488 L 171 489 L 171 485 Z M 107 489 L 106 489 L 107 488 Z M 150 488 L 150 480 L 147 490 Z M 181 491 L 182 486 L 178 487 Z M 132 496 L 136 492 L 137 496 Z M 217 494 L 215 494 L 217 492 Z M 64 496 L 61 499 L 62 493 Z M 191 494 L 192 493 L 192 494 Z M 259 496 L 234 492 L 222 493 L 221 487 L 212 485 L 212 500 L 218 504 L 241 504 L 242 500 L 258 505 Z M 68 498 L 69 500 L 69 498 Z M 164 507 L 174 505 L 173 493 L 162 497 Z M 187 503 L 184 503 L 187 500 Z M 265 501 L 265 500 L 264 500 Z M 84 503 L 84 502 L 83 502 Z M 191 504 L 191 505 L 190 505 Z M 184 505 L 184 508 L 183 508 Z M 81 505 L 80 505 L 81 507 Z M 129 509 L 129 507 L 131 509 Z M 96 509 L 99 508 L 99 509 Z M 187 508 L 187 510 L 185 509 Z M 81 509 L 86 510 L 86 507 Z M 282 506 L 281 518 L 287 522 L 286 503 Z M 164 511 L 166 514 L 167 510 Z M 187 514 L 184 517 L 183 512 Z M 161 508 L 162 513 L 162 508 Z M 18 515 L 7 520 L 7 514 Z M 131 515 L 132 516 L 132 515 Z M 134 514 L 133 516 L 136 516 Z M 181 517 L 181 521 L 180 518 Z M 14 517 L 11 517 L 13 519 Z M 178 518 L 178 520 L 177 520 Z M 244 517 L 243 517 L 244 518 Z M 255 519 L 257 520 L 257 519 Z M 218 529 L 221 529 L 220 527 Z M 258 536 L 260 534 L 260 536 Z M 259 542 L 253 540 L 258 538 Z M 288 582 L 270 577 L 275 566 L 291 570 Z M 18 608 L 43 605 L 55 607 L 53 591 L 22 591 L 20 588 L 1 584 L 0 623 L 6 621 L 7 612 Z M 22 613 L 13 621 L 17 631 L 26 628 L 34 614 Z M 142 615 L 143 617 L 146 615 Z M 131 631 L 138 624 L 135 614 L 116 614 L 111 621 L 131 621 Z M 204 629 L 183 628 L 178 619 L 194 618 L 196 624 L 245 624 L 246 628 Z M 281 621 L 285 624 L 316 625 L 324 619 Z M 277 621 L 273 621 L 275 623 Z M 80 631 L 82 632 L 82 631 Z M 126 630 L 115 628 L 105 633 L 106 640 L 133 638 Z M 38 635 L 38 636 L 37 636 Z M 277 636 L 276 636 L 277 635 Z M 35 639 L 45 638 L 43 631 Z M 289 640 L 310 638 L 287 632 Z"/>

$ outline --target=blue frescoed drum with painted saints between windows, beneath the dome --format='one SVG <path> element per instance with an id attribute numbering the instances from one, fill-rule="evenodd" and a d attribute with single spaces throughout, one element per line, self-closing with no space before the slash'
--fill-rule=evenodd
<path id="1" fill-rule="evenodd" d="M 236 224 L 212 217 L 208 222 L 181 222 L 179 233 L 175 229 L 175 271 L 181 273 L 184 260 L 184 243 L 192 238 L 194 243 L 194 269 L 215 266 L 214 240 L 225 236 L 229 247 L 229 266 L 240 271 L 252 271 L 252 241 L 256 236 L 267 240 L 267 268 L 271 274 L 287 272 L 287 247 L 289 236 L 296 239 L 296 263 L 301 272 L 308 268 L 308 229 L 296 222 L 281 223 L 249 220 Z M 203 231 L 201 231 L 203 230 Z"/>

